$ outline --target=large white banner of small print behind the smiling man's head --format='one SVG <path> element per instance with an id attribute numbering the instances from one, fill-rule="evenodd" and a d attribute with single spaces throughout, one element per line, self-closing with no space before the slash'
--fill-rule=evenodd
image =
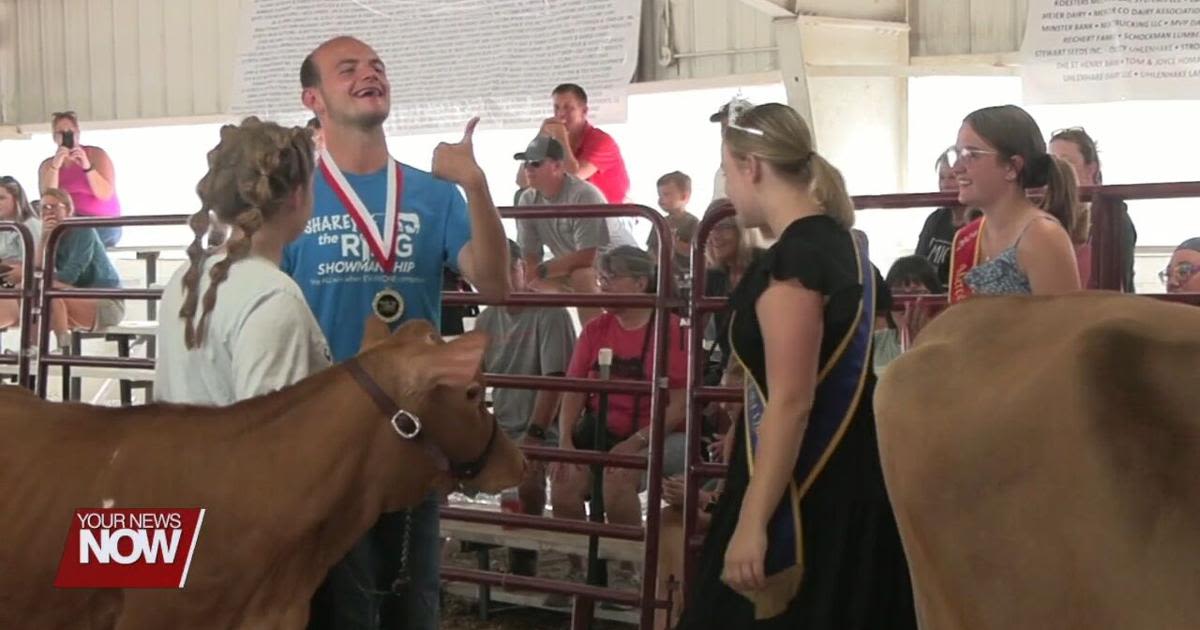
<path id="1" fill-rule="evenodd" d="M 233 113 L 307 119 L 301 61 L 350 35 L 388 67 L 392 133 L 536 126 L 560 83 L 587 90 L 593 121 L 624 122 L 640 17 L 638 0 L 250 0 Z"/>

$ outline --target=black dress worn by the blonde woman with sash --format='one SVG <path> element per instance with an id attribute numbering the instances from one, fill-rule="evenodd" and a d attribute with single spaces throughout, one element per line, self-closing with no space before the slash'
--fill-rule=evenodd
<path id="1" fill-rule="evenodd" d="M 820 365 L 824 367 L 856 319 L 863 298 L 851 235 L 826 216 L 788 226 L 768 254 L 743 276 L 731 306 L 733 348 L 766 390 L 766 355 L 755 302 L 772 278 L 798 280 L 827 299 Z M 865 390 L 842 439 L 800 500 L 804 574 L 787 610 L 755 622 L 750 601 L 720 581 L 725 550 L 750 476 L 739 420 L 730 473 L 700 557 L 688 607 L 677 628 L 788 630 L 906 630 L 916 613 L 908 568 L 883 486 L 871 398 Z"/>

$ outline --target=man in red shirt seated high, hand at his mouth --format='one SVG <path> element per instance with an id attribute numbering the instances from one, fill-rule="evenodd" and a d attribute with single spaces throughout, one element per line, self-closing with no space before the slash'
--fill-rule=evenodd
<path id="1" fill-rule="evenodd" d="M 541 133 L 569 149 L 563 168 L 600 188 L 608 203 L 625 203 L 629 193 L 625 160 L 617 140 L 588 122 L 588 94 L 574 83 L 564 83 L 551 94 L 554 116 L 542 122 Z"/>

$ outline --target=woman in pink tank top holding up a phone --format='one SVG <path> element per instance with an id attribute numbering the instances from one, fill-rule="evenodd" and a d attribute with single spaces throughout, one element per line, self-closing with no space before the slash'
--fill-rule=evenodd
<path id="1" fill-rule="evenodd" d="M 79 118 L 74 112 L 54 114 L 50 126 L 59 148 L 38 167 L 38 188 L 61 188 L 73 199 L 78 216 L 121 216 L 116 176 L 108 154 L 98 146 L 80 144 Z M 113 247 L 121 240 L 120 227 L 96 228 L 96 233 L 106 247 Z"/>

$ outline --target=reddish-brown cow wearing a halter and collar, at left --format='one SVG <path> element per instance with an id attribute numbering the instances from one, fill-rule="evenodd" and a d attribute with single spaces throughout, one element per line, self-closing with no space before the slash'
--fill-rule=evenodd
<path id="1" fill-rule="evenodd" d="M 451 487 L 436 455 L 484 455 L 480 490 L 520 481 L 524 458 L 484 407 L 485 346 L 414 322 L 358 356 L 424 421 L 418 440 L 346 365 L 226 408 L 102 408 L 2 388 L 0 628 L 304 628 L 328 569 L 382 512 Z M 73 511 L 109 504 L 208 509 L 186 588 L 53 587 Z"/>

